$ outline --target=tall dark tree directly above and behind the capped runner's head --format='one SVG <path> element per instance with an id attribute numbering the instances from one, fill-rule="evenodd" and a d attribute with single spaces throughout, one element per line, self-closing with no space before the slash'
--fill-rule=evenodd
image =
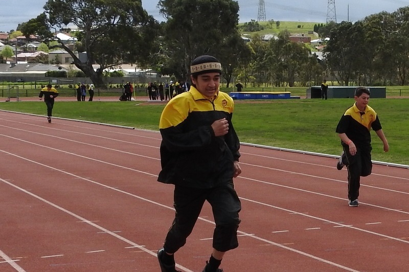
<path id="1" fill-rule="evenodd" d="M 186 79 L 191 61 L 200 55 L 221 59 L 220 45 L 238 33 L 239 5 L 232 0 L 161 0 L 165 16 L 163 57 L 175 75 Z M 229 65 L 222 63 L 222 66 Z"/>

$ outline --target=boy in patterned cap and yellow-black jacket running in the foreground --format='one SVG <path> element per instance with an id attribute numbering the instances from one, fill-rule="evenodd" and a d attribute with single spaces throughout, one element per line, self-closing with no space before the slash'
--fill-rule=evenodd
<path id="1" fill-rule="evenodd" d="M 174 184 L 175 218 L 163 249 L 162 272 L 176 272 L 174 253 L 193 230 L 205 201 L 212 206 L 213 252 L 203 272 L 218 268 L 225 252 L 238 246 L 240 200 L 233 178 L 241 173 L 240 142 L 233 128 L 233 99 L 219 91 L 221 64 L 212 56 L 192 61 L 192 86 L 174 97 L 160 119 L 161 165 L 158 181 Z"/>

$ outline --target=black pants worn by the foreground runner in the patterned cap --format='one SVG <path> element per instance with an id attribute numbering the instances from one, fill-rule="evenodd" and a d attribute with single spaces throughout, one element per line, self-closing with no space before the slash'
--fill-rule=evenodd
<path id="1" fill-rule="evenodd" d="M 175 253 L 191 234 L 205 201 L 212 206 L 216 227 L 213 232 L 213 248 L 226 252 L 237 248 L 237 229 L 240 224 L 241 203 L 233 182 L 211 189 L 197 189 L 176 185 L 172 227 L 166 236 L 164 249 Z"/>

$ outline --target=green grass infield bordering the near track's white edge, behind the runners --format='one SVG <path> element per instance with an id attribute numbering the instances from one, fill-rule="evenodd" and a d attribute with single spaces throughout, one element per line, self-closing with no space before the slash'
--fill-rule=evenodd
<path id="1" fill-rule="evenodd" d="M 384 153 L 382 142 L 372 132 L 372 158 L 409 165 L 409 107 L 407 99 L 373 98 L 383 131 L 390 144 Z M 139 105 L 138 105 L 139 104 Z M 335 127 L 340 116 L 353 104 L 352 99 L 277 100 L 263 103 L 237 101 L 233 116 L 240 141 L 287 149 L 338 155 L 341 151 Z M 56 102 L 53 115 L 80 120 L 114 123 L 158 130 L 164 105 L 147 102 Z M 43 102 L 0 103 L 0 109 L 46 114 Z"/>

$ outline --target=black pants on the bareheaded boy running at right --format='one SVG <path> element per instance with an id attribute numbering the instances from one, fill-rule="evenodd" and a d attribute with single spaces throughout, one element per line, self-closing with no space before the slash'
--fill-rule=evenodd
<path id="1" fill-rule="evenodd" d="M 372 160 L 371 160 L 371 149 L 361 149 L 359 146 L 356 147 L 356 154 L 352 156 L 349 153 L 349 146 L 347 144 L 342 144 L 346 159 L 343 163 L 348 169 L 348 199 L 354 201 L 358 199 L 359 187 L 360 187 L 360 177 L 367 177 L 371 175 L 372 172 Z"/>

